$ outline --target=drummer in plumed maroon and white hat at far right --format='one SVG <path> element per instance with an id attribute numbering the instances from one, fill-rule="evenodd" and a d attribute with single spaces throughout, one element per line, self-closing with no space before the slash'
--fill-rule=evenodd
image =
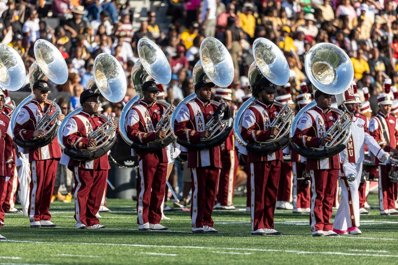
<path id="1" fill-rule="evenodd" d="M 386 91 L 388 93 L 388 91 Z M 397 136 L 398 136 L 398 120 L 390 114 L 392 97 L 389 94 L 379 95 L 377 97 L 379 113 L 371 119 L 369 124 L 369 132 L 381 146 L 381 148 L 392 154 L 398 154 Z M 378 188 L 379 188 L 379 206 L 381 215 L 398 214 L 395 209 L 395 199 L 393 191 L 393 182 L 388 177 L 390 166 L 378 165 Z"/>

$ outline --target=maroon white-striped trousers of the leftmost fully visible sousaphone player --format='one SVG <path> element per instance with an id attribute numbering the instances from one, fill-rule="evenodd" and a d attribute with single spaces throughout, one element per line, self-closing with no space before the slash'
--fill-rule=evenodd
<path id="1" fill-rule="evenodd" d="M 49 208 L 59 159 L 33 160 L 30 163 L 29 218 L 31 222 L 51 219 Z"/>

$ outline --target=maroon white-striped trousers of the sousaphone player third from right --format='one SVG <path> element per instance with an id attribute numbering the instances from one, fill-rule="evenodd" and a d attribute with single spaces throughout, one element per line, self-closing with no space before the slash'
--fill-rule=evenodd
<path id="1" fill-rule="evenodd" d="M 191 168 L 192 179 L 192 203 L 191 220 L 192 227 L 213 227 L 214 203 L 216 201 L 218 179 L 220 169 L 213 166 Z"/>

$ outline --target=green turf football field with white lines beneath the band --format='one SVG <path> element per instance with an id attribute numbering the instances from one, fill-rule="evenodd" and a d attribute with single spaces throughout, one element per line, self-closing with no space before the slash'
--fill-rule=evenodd
<path id="1" fill-rule="evenodd" d="M 369 196 L 377 206 L 377 195 Z M 362 235 L 313 238 L 307 214 L 275 212 L 284 236 L 251 236 L 245 199 L 242 210 L 213 212 L 219 234 L 192 234 L 189 211 L 166 212 L 171 231 L 137 230 L 135 201 L 108 199 L 101 213 L 106 230 L 75 229 L 74 205 L 55 202 L 51 219 L 60 228 L 29 228 L 21 214 L 6 214 L 0 264 L 398 264 L 398 216 L 377 209 L 361 215 Z M 172 203 L 168 203 L 172 205 Z"/>

